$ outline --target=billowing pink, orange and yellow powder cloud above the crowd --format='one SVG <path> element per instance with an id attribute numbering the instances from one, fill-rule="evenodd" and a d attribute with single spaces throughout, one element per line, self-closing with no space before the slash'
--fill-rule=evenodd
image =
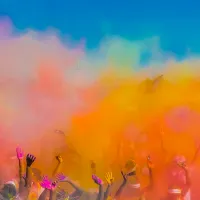
<path id="1" fill-rule="evenodd" d="M 143 166 L 148 154 L 160 166 L 161 132 L 169 159 L 192 159 L 200 141 L 198 56 L 177 60 L 156 38 L 107 38 L 88 50 L 62 43 L 54 31 L 0 26 L 2 166 L 15 162 L 7 156 L 19 144 L 43 173 L 61 153 L 64 172 L 91 185 L 91 160 L 100 176 L 129 158 Z"/>

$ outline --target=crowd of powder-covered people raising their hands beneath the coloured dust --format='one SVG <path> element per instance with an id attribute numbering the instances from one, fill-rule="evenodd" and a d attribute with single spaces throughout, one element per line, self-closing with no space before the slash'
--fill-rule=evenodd
<path id="1" fill-rule="evenodd" d="M 37 162 L 36 157 L 32 154 L 25 154 L 20 147 L 16 148 L 16 154 L 19 161 L 19 175 L 16 179 L 4 183 L 0 191 L 1 200 L 161 200 L 161 197 L 158 198 L 155 194 L 155 168 L 150 156 L 146 158 L 148 185 L 141 184 L 136 170 L 137 164 L 135 160 L 130 159 L 121 170 L 121 184 L 113 193 L 112 187 L 115 185 L 115 180 L 112 172 L 106 173 L 104 177 L 106 182 L 104 182 L 93 170 L 91 179 L 98 189 L 95 192 L 88 192 L 60 172 L 59 166 L 63 163 L 61 155 L 56 157 L 58 166 L 52 177 L 44 175 L 35 179 L 32 166 Z M 178 173 L 172 175 L 173 178 L 168 180 L 168 190 L 163 194 L 162 200 L 190 200 L 191 179 L 185 158 L 176 156 L 172 165 L 179 170 L 176 171 Z M 95 163 L 92 163 L 91 168 L 95 168 Z M 69 193 L 62 189 L 61 182 L 71 185 L 73 192 Z"/>

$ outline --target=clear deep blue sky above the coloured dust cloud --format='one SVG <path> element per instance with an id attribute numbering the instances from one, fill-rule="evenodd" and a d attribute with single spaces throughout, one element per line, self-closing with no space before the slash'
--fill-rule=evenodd
<path id="1" fill-rule="evenodd" d="M 159 36 L 161 47 L 177 55 L 200 52 L 200 2 L 178 0 L 0 0 L 0 15 L 16 28 L 55 27 L 89 48 L 105 35 L 126 39 Z"/>

